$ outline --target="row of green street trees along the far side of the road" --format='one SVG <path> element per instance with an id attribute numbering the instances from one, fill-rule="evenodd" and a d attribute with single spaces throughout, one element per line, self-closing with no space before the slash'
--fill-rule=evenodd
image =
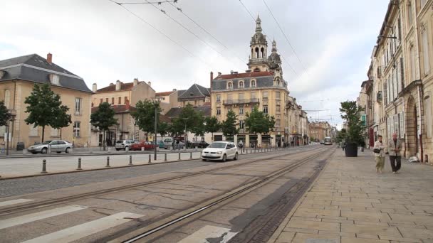
<path id="1" fill-rule="evenodd" d="M 71 114 L 68 114 L 69 107 L 62 104 L 60 96 L 54 93 L 48 84 L 35 85 L 24 103 L 28 104 L 26 107 L 28 117 L 24 121 L 34 127 L 42 127 L 42 141 L 46 126 L 61 131 L 63 127 L 72 123 Z M 157 116 L 157 133 L 161 136 L 167 134 L 179 136 L 190 131 L 197 136 L 211 133 L 213 139 L 217 131 L 221 131 L 224 136 L 234 136 L 239 133 L 240 124 L 237 122 L 236 114 L 231 110 L 224 121 L 219 121 L 216 117 L 205 117 L 202 112 L 197 112 L 191 104 L 188 104 L 182 109 L 179 117 L 167 123 L 159 119 L 162 111 L 159 102 L 145 99 L 137 102 L 135 108 L 131 115 L 135 119 L 135 124 L 146 133 L 155 133 L 155 116 Z M 0 126 L 6 125 L 9 119 L 10 113 L 4 106 L 4 102 L 0 102 Z M 118 124 L 113 107 L 108 102 L 101 103 L 98 110 L 91 114 L 90 124 L 103 131 L 105 149 L 105 131 Z M 273 131 L 275 119 L 254 107 L 251 113 L 246 113 L 244 126 L 251 134 L 267 134 Z"/>

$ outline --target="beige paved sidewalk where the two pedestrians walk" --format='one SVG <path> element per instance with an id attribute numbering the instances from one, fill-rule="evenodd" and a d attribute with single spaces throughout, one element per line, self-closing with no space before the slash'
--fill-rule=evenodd
<path id="1" fill-rule="evenodd" d="M 371 151 L 340 149 L 269 242 L 433 242 L 433 166 L 389 159 L 376 173 Z"/>

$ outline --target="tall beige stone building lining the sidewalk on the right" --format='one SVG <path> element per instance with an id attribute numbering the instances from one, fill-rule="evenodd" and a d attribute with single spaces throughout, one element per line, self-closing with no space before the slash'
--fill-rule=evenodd
<path id="1" fill-rule="evenodd" d="M 431 161 L 433 0 L 390 1 L 373 49 L 372 129 L 404 141 L 403 154 Z"/>

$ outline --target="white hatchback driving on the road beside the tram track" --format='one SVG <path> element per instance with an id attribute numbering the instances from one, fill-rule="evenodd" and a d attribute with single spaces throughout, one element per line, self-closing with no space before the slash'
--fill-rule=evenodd
<path id="1" fill-rule="evenodd" d="M 216 141 L 202 151 L 203 161 L 220 160 L 225 162 L 227 158 L 233 158 L 235 161 L 238 159 L 238 148 L 233 142 Z"/>

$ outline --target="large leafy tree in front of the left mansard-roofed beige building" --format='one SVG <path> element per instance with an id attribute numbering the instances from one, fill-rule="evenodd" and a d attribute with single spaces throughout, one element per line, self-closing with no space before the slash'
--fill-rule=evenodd
<path id="1" fill-rule="evenodd" d="M 26 109 L 28 117 L 24 121 L 26 124 L 33 124 L 34 127 L 42 126 L 42 141 L 46 126 L 65 124 L 59 122 L 57 117 L 65 118 L 68 107 L 62 105 L 60 96 L 51 90 L 50 85 L 35 85 L 24 103 L 28 104 Z"/>

